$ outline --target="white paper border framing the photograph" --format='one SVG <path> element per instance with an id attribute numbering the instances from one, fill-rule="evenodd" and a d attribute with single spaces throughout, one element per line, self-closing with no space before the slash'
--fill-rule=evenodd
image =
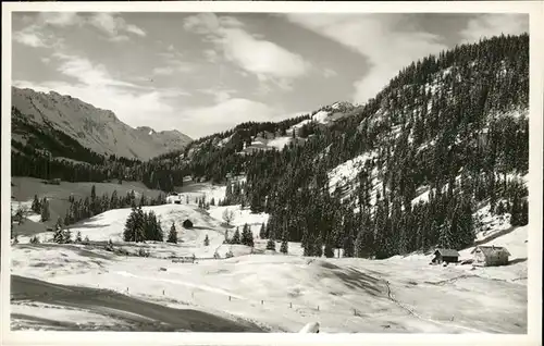
<path id="1" fill-rule="evenodd" d="M 3 345 L 541 345 L 542 344 L 542 120 L 544 96 L 542 1 L 148 1 L 2 3 L 1 331 Z M 530 168 L 528 334 L 297 334 L 10 331 L 11 15 L 13 12 L 312 12 L 527 13 L 530 16 Z"/>

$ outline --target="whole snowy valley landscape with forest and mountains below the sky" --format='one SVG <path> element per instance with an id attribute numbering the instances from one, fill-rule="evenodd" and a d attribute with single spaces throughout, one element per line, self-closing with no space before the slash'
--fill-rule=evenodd
<path id="1" fill-rule="evenodd" d="M 195 140 L 12 97 L 13 330 L 528 331 L 527 34 Z"/>

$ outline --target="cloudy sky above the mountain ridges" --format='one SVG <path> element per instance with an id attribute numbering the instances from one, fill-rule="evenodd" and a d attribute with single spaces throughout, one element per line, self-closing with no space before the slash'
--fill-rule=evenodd
<path id="1" fill-rule="evenodd" d="M 12 82 L 198 138 L 362 104 L 415 60 L 527 32 L 527 14 L 16 12 Z"/>

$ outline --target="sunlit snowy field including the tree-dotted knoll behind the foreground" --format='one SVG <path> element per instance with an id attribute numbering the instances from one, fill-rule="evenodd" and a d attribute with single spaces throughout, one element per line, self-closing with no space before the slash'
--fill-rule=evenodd
<path id="1" fill-rule="evenodd" d="M 224 188 L 206 184 L 185 190 L 190 197 L 203 194 L 215 199 L 222 193 Z M 12 247 L 12 274 L 111 289 L 164 307 L 250 321 L 272 332 L 298 332 L 309 322 L 319 322 L 325 333 L 527 333 L 527 226 L 511 228 L 507 221 L 484 220 L 491 228 L 478 242 L 506 246 L 511 264 L 444 268 L 429 265 L 431 257 L 421 254 L 387 260 L 305 258 L 297 243 L 288 244 L 287 256 L 264 251 L 267 240 L 258 234 L 268 215 L 251 214 L 239 206 L 203 211 L 191 200 L 144 209 L 157 213 L 165 232 L 174 222 L 182 242 L 125 244 L 121 240 L 129 209 L 110 210 L 74 225 L 73 234 L 79 231 L 91 242 L 112 239 L 115 248 L 131 254 L 144 247 L 150 257 L 119 256 L 92 245 L 30 245 L 27 237 L 21 237 Z M 222 220 L 225 209 L 235 214 L 228 228 Z M 186 219 L 194 222 L 194 228 L 183 228 Z M 232 235 L 235 226 L 242 231 L 245 223 L 256 238 L 254 250 L 223 244 L 226 230 Z M 209 246 L 203 246 L 206 235 Z M 38 236 L 44 242 L 51 234 Z M 235 257 L 225 259 L 228 250 Z M 460 251 L 461 259 L 470 258 L 470 250 Z M 168 259 L 193 254 L 209 258 L 215 251 L 221 259 L 196 263 Z M 77 320 L 85 330 L 127 330 L 132 320 L 110 312 L 17 300 L 12 302 L 11 325 L 62 330 L 66 321 Z M 37 319 L 49 313 L 48 323 Z"/>

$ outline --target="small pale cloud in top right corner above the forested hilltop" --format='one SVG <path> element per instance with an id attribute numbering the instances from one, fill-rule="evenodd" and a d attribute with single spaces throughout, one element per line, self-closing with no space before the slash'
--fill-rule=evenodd
<path id="1" fill-rule="evenodd" d="M 520 35 L 529 32 L 529 15 L 485 13 L 471 18 L 459 34 L 463 44 L 473 44 L 485 37 Z"/>

